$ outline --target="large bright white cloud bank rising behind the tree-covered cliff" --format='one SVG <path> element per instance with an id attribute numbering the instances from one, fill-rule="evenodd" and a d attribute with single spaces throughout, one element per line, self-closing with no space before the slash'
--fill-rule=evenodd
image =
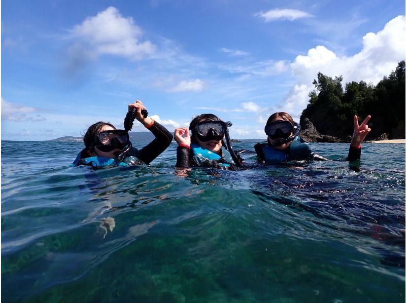
<path id="1" fill-rule="evenodd" d="M 398 16 L 381 31 L 364 35 L 362 49 L 353 56 L 339 57 L 324 46 L 309 50 L 307 56 L 297 56 L 291 63 L 296 85 L 288 93 L 281 109 L 300 116 L 319 71 L 329 77 L 342 75 L 343 87 L 347 82 L 361 80 L 377 84 L 396 68 L 399 61 L 404 60 L 406 40 L 400 37 L 405 31 L 405 17 Z"/>

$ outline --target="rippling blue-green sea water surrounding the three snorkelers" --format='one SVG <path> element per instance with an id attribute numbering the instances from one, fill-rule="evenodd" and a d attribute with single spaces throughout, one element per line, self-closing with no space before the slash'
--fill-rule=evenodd
<path id="1" fill-rule="evenodd" d="M 404 144 L 311 146 L 336 161 L 182 170 L 173 142 L 92 169 L 2 141 L 2 301 L 404 302 Z"/>

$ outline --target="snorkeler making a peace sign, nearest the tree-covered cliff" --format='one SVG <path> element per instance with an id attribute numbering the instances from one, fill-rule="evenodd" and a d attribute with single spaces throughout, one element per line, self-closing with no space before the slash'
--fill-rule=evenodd
<path id="1" fill-rule="evenodd" d="M 358 125 L 358 118 L 354 116 L 354 133 L 350 143 L 347 161 L 361 158 L 361 142 L 371 131 L 366 124 L 371 116 Z M 301 161 L 301 160 L 329 160 L 313 152 L 309 144 L 298 137 L 300 125 L 293 121 L 286 112 L 276 112 L 268 118 L 265 133 L 267 143 L 257 143 L 254 148 L 261 162 Z"/>

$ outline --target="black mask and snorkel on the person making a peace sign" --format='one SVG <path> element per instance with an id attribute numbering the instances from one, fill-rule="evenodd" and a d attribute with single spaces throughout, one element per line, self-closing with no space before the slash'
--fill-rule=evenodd
<path id="1" fill-rule="evenodd" d="M 300 125 L 297 122 L 293 122 L 292 125 L 289 121 L 276 121 L 265 126 L 265 134 L 275 140 L 273 143 L 269 142 L 273 147 L 292 141 L 299 131 Z"/>

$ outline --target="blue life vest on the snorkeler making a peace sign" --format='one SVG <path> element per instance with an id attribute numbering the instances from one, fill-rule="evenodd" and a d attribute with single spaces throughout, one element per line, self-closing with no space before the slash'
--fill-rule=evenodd
<path id="1" fill-rule="evenodd" d="M 258 143 L 254 146 L 257 156 L 265 162 L 312 160 L 313 150 L 309 143 L 296 137 L 287 149 L 280 150 L 268 143 Z"/>

